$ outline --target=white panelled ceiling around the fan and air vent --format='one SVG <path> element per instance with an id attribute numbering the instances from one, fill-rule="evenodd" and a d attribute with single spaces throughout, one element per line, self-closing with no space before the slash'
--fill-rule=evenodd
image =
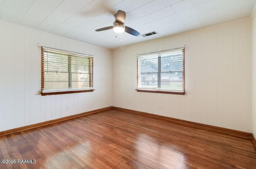
<path id="1" fill-rule="evenodd" d="M 0 19 L 111 49 L 249 17 L 256 0 L 0 0 Z M 149 37 L 121 35 L 112 26 L 117 10 L 125 25 Z"/>

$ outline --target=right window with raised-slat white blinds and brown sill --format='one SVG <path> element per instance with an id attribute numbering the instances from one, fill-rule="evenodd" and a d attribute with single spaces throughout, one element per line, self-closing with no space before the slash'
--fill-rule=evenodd
<path id="1" fill-rule="evenodd" d="M 184 48 L 137 55 L 137 91 L 185 94 Z"/>

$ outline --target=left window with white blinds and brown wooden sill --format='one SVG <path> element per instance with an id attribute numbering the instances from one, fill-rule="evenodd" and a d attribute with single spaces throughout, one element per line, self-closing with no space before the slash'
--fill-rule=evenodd
<path id="1" fill-rule="evenodd" d="M 42 47 L 42 95 L 92 91 L 92 56 Z"/>

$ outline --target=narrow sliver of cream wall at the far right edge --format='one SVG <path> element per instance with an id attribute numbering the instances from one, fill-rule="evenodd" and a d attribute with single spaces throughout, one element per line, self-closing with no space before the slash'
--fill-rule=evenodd
<path id="1" fill-rule="evenodd" d="M 252 132 L 256 137 L 256 12 L 252 17 L 252 103 Z"/>

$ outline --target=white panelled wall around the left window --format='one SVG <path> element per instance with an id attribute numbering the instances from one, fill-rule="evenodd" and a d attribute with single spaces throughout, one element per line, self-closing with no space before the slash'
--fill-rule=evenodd
<path id="1" fill-rule="evenodd" d="M 41 45 L 95 54 L 95 91 L 41 96 Z M 0 79 L 0 131 L 104 108 L 112 106 L 112 51 L 0 20 Z"/>

